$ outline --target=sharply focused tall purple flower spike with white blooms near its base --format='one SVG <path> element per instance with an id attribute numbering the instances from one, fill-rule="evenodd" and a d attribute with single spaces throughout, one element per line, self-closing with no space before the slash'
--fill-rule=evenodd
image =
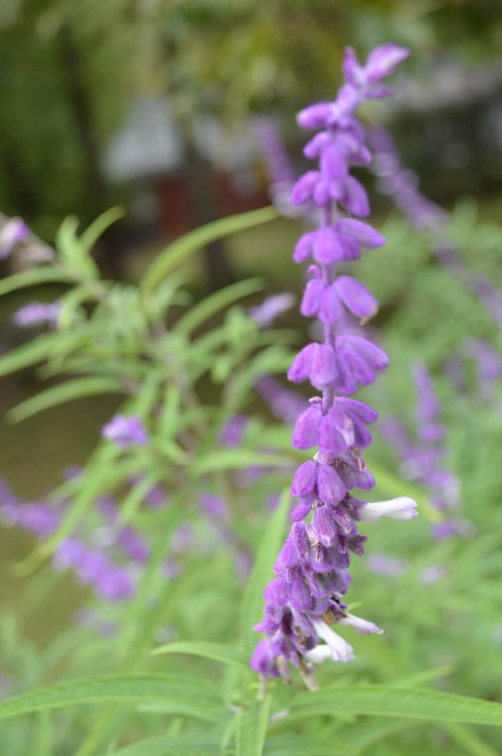
<path id="1" fill-rule="evenodd" d="M 313 203 L 321 211 L 320 228 L 303 234 L 294 261 L 313 258 L 300 309 L 303 315 L 322 321 L 324 342 L 302 349 L 288 378 L 294 383 L 310 380 L 322 391 L 298 417 L 293 433 L 296 448 L 317 446 L 319 451 L 294 476 L 291 494 L 299 503 L 291 513 L 294 524 L 274 566 L 276 578 L 263 593 L 265 615 L 254 629 L 267 638 L 257 644 L 251 668 L 263 678 L 288 677 L 289 661 L 310 687 L 315 685 L 311 662 L 353 658 L 350 644 L 331 624 L 349 625 L 359 634 L 378 632 L 372 622 L 350 615 L 342 600 L 350 584 L 349 553 L 364 551 L 366 539 L 359 534 L 357 522 L 376 522 L 382 515 L 411 519 L 417 514 L 415 502 L 408 497 L 368 503 L 350 494 L 353 488 L 366 490 L 374 485 L 360 449 L 371 443 L 366 426 L 377 417 L 371 407 L 350 395 L 372 383 L 388 360 L 361 336 L 337 334 L 345 308 L 365 320 L 375 313 L 377 302 L 359 281 L 334 273 L 335 264 L 359 259 L 361 247 L 374 249 L 385 241 L 357 219 L 368 215 L 370 208 L 365 189 L 350 175 L 350 168 L 368 165 L 371 154 L 354 111 L 365 98 L 391 94 L 381 79 L 406 57 L 405 48 L 381 45 L 362 67 L 347 48 L 343 57 L 346 84 L 337 100 L 307 107 L 297 117 L 305 129 L 322 129 L 304 149 L 306 157 L 319 159 L 319 170 L 297 181 L 291 200 L 295 205 Z M 303 522 L 311 513 L 311 522 Z"/>

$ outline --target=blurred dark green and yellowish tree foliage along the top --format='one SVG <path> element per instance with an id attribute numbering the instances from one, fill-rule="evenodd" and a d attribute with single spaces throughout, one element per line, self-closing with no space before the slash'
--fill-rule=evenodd
<path id="1" fill-rule="evenodd" d="M 5 0 L 0 7 L 0 206 L 50 238 L 75 207 L 113 201 L 100 155 L 137 95 L 168 95 L 189 134 L 201 113 L 239 122 L 327 98 L 343 47 L 409 45 L 408 70 L 494 57 L 488 0 Z"/>

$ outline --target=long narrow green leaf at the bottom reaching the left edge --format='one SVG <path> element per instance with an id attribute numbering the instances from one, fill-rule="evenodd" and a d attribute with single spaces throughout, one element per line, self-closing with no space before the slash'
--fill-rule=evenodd
<path id="1" fill-rule="evenodd" d="M 217 701 L 214 686 L 179 674 L 122 674 L 57 683 L 0 703 L 0 719 L 73 704 L 106 701 Z"/>

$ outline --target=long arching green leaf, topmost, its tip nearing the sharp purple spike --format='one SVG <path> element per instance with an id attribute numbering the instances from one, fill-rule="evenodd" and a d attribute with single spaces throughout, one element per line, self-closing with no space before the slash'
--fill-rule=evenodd
<path id="1" fill-rule="evenodd" d="M 221 218 L 184 234 L 152 262 L 140 281 L 140 289 L 143 294 L 148 295 L 183 259 L 202 249 L 209 242 L 235 234 L 236 231 L 244 231 L 245 228 L 273 221 L 275 218 L 277 218 L 276 209 L 272 206 L 264 207 L 239 215 L 230 215 L 229 218 Z"/>

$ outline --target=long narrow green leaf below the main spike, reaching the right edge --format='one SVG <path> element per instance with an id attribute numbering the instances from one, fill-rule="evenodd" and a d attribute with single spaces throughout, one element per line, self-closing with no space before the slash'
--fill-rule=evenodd
<path id="1" fill-rule="evenodd" d="M 303 694 L 291 702 L 291 716 L 295 718 L 340 711 L 502 727 L 502 705 L 429 690 L 354 685 Z"/>

